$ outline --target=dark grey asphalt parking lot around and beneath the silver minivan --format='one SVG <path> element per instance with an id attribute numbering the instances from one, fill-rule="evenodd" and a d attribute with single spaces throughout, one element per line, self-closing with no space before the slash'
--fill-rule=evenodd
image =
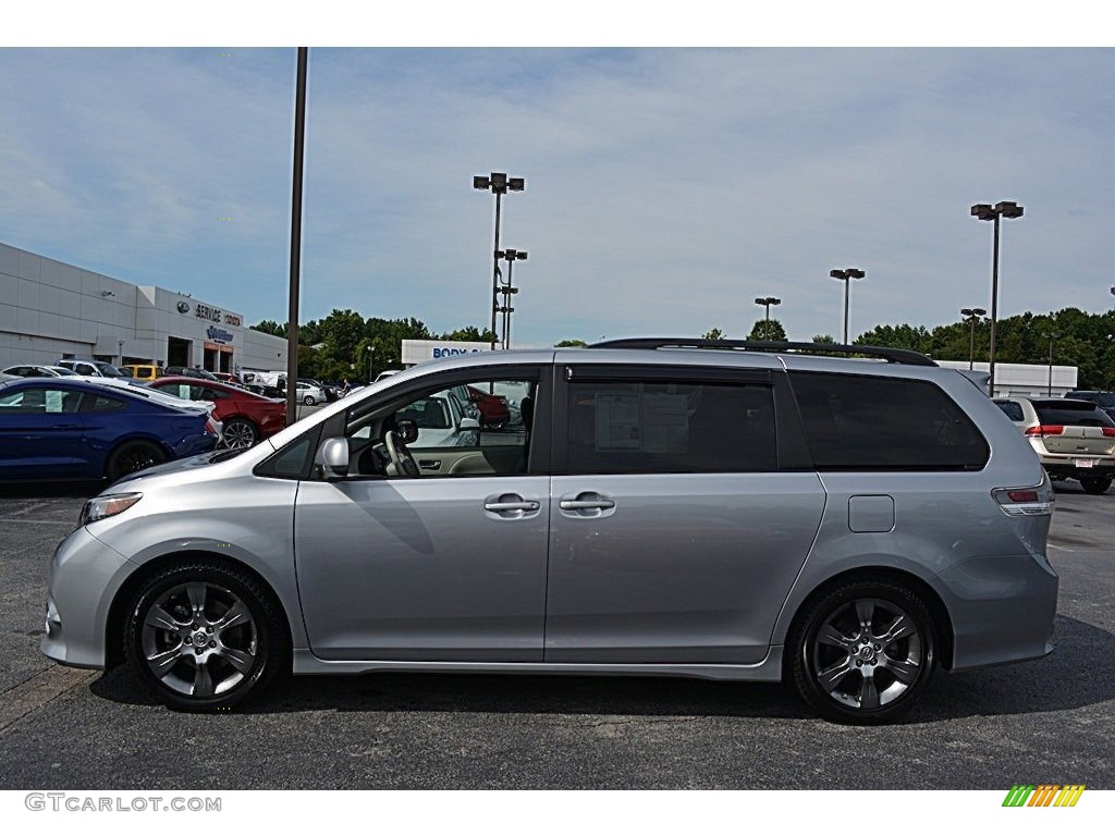
<path id="1" fill-rule="evenodd" d="M 779 686 L 300 678 L 221 715 L 39 654 L 48 564 L 95 486 L 0 488 L 0 788 L 1115 788 L 1115 492 L 1058 485 L 1049 658 L 939 674 L 905 722 L 814 718 Z"/>

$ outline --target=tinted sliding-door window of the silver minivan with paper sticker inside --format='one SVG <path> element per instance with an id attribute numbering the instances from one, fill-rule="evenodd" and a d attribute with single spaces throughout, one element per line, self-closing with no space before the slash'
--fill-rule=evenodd
<path id="1" fill-rule="evenodd" d="M 766 386 L 569 383 L 570 474 L 753 473 L 777 466 Z"/>

